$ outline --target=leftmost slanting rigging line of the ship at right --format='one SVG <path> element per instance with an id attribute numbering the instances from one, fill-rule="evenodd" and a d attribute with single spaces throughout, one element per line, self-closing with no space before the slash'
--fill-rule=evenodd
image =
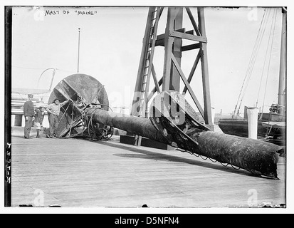
<path id="1" fill-rule="evenodd" d="M 242 96 L 241 96 L 241 101 L 240 101 L 240 103 L 239 103 L 239 107 L 238 107 L 237 115 L 238 115 L 239 112 L 240 112 L 241 104 L 242 104 L 243 98 L 244 98 L 244 96 L 245 96 L 245 94 L 246 94 L 246 90 L 247 90 L 247 88 L 248 88 L 249 81 L 250 81 L 250 79 L 251 79 L 251 74 L 252 74 L 252 71 L 253 71 L 253 66 L 255 66 L 255 63 L 256 63 L 256 57 L 257 57 L 257 55 L 258 55 L 258 51 L 259 51 L 259 49 L 260 49 L 260 47 L 261 47 L 261 41 L 263 40 L 263 36 L 264 36 L 265 31 L 266 31 L 266 24 L 268 23 L 268 18 L 269 18 L 269 13 L 266 15 L 266 22 L 265 22 L 265 24 L 263 24 L 264 27 L 263 27 L 263 29 L 262 29 L 262 34 L 261 34 L 261 36 L 259 37 L 258 45 L 256 46 L 256 49 L 254 50 L 254 53 L 253 53 L 253 61 L 252 61 L 251 64 L 248 66 L 248 75 L 246 75 L 246 78 L 244 79 L 244 82 L 246 81 L 246 86 L 245 86 L 245 88 L 244 88 L 244 90 L 243 90 L 243 94 L 242 94 Z"/>

